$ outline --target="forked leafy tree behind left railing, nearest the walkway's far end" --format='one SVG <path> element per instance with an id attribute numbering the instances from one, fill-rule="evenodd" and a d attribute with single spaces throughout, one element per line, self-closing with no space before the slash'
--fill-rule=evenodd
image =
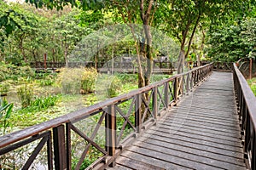
<path id="1" fill-rule="evenodd" d="M 200 23 L 210 23 L 208 27 L 220 25 L 229 19 L 241 17 L 241 14 L 251 8 L 254 1 L 231 1 L 231 0 L 175 0 L 160 3 L 157 22 L 163 21 L 163 29 L 169 31 L 173 37 L 180 42 L 180 53 L 178 57 L 178 73 L 183 72 L 184 60 L 195 36 L 195 31 Z M 242 7 L 242 8 L 241 8 Z M 210 20 L 210 22 L 209 22 Z"/>

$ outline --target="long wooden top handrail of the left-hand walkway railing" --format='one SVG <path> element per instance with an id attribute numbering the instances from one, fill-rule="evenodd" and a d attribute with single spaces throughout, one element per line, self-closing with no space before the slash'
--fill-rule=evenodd
<path id="1" fill-rule="evenodd" d="M 90 116 L 91 113 L 93 113 L 95 111 L 101 111 L 102 109 L 104 109 L 108 105 L 118 103 L 119 101 L 122 101 L 122 100 L 125 100 L 125 99 L 130 99 L 132 96 L 147 92 L 148 90 L 150 90 L 154 87 L 158 87 L 158 86 L 160 86 L 160 85 L 162 85 L 166 82 L 170 82 L 170 81 L 172 81 L 173 79 L 175 79 L 177 77 L 182 77 L 183 75 L 186 75 L 186 74 L 191 73 L 193 71 L 200 70 L 201 68 L 207 67 L 208 65 L 212 65 L 212 63 L 207 64 L 207 65 L 202 65 L 200 67 L 194 68 L 190 71 L 186 71 L 186 72 L 181 73 L 181 74 L 177 74 L 173 77 L 167 78 L 167 79 L 162 80 L 160 82 L 154 82 L 154 83 L 152 83 L 152 84 L 150 84 L 146 87 L 138 88 L 136 90 L 132 90 L 128 94 L 122 94 L 122 95 L 119 95 L 117 97 L 99 102 L 95 105 L 90 105 L 90 106 L 88 106 L 88 107 L 86 107 L 82 110 L 74 111 L 74 112 L 68 113 L 67 115 L 56 117 L 55 119 L 49 120 L 47 122 L 42 122 L 42 123 L 34 125 L 32 127 L 26 127 L 25 129 L 22 129 L 20 131 L 6 134 L 6 135 L 0 137 L 0 148 L 3 148 L 3 147 L 5 147 L 9 144 L 13 144 L 13 143 L 15 143 L 15 142 L 17 142 L 21 139 L 26 139 L 27 137 L 33 136 L 33 135 L 38 134 L 40 132 L 44 132 L 45 130 L 48 130 L 49 128 L 58 127 L 58 126 L 60 126 L 61 124 L 65 123 L 65 122 L 72 122 L 72 120 L 79 119 L 80 117 Z"/>

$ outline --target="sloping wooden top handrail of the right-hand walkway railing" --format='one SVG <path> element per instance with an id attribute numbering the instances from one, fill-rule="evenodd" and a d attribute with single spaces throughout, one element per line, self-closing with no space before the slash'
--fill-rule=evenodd
<path id="1" fill-rule="evenodd" d="M 245 77 L 243 77 L 241 71 L 239 71 L 239 69 L 237 68 L 236 63 L 234 63 L 233 65 L 234 70 L 236 71 L 236 76 L 241 85 L 242 94 L 247 104 L 247 111 L 250 114 L 250 117 L 253 121 L 254 131 L 256 132 L 256 97 L 253 94 L 252 89 L 249 87 Z"/>

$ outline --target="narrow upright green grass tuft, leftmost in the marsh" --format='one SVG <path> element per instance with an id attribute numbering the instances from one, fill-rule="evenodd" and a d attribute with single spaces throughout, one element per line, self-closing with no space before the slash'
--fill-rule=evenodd
<path id="1" fill-rule="evenodd" d="M 32 87 L 25 84 L 24 86 L 18 88 L 17 94 L 20 99 L 22 108 L 26 108 L 27 106 L 32 104 Z"/>

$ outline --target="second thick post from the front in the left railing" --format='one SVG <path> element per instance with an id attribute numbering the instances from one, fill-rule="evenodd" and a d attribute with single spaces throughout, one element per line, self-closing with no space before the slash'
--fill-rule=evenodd
<path id="1" fill-rule="evenodd" d="M 106 132 L 106 150 L 108 156 L 115 156 L 116 149 L 116 116 L 114 104 L 108 106 L 108 112 L 105 117 L 105 132 Z M 115 162 L 112 162 L 109 167 L 114 167 Z"/>

